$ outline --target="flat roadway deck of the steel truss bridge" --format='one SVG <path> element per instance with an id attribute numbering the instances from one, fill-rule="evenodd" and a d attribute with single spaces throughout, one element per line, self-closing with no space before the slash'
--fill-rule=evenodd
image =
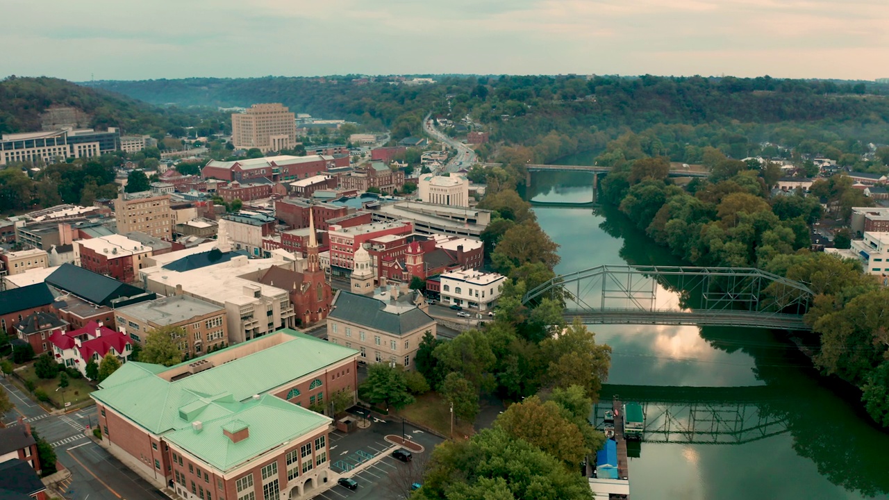
<path id="1" fill-rule="evenodd" d="M 775 328 L 808 331 L 812 327 L 796 314 L 770 314 L 746 310 L 575 310 L 565 319 L 580 318 L 587 325 L 696 325 L 700 327 Z"/>

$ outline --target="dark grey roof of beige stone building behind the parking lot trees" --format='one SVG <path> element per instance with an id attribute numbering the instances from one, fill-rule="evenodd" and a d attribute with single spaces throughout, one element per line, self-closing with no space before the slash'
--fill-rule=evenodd
<path id="1" fill-rule="evenodd" d="M 435 323 L 435 319 L 419 308 L 414 307 L 401 313 L 391 312 L 385 310 L 386 302 L 351 292 L 341 291 L 333 305 L 330 318 L 395 335 L 407 334 Z"/>

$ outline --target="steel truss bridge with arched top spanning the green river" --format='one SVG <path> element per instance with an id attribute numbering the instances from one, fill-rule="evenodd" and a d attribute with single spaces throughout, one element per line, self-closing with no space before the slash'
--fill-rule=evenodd
<path id="1" fill-rule="evenodd" d="M 552 278 L 522 303 L 565 303 L 588 325 L 698 325 L 811 330 L 805 284 L 755 268 L 603 265 Z M 670 303 L 671 302 L 671 303 Z"/>

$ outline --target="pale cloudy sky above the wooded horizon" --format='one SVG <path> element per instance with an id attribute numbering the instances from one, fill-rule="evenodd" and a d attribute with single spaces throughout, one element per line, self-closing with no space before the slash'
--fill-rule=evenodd
<path id="1" fill-rule="evenodd" d="M 887 0 L 0 0 L 0 75 L 889 77 Z"/>

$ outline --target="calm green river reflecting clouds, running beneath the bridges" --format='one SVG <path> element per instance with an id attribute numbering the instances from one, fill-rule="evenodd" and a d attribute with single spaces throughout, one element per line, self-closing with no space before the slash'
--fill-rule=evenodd
<path id="1" fill-rule="evenodd" d="M 587 203 L 591 189 L 587 173 L 533 173 L 528 196 L 549 204 Z M 557 273 L 600 264 L 683 263 L 613 207 L 534 211 L 561 246 Z M 621 391 L 632 389 L 646 400 L 653 432 L 630 458 L 634 500 L 889 498 L 889 434 L 864 413 L 859 394 L 847 395 L 845 384 L 819 375 L 783 332 L 590 328 L 597 342 L 613 348 L 603 393 L 620 384 Z"/>

